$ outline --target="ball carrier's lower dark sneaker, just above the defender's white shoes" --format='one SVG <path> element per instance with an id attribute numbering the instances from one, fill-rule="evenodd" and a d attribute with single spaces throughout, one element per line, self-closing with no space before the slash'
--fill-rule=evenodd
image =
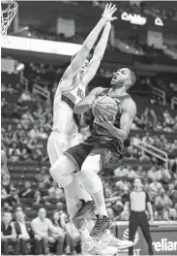
<path id="1" fill-rule="evenodd" d="M 106 231 L 109 229 L 111 229 L 110 218 L 99 215 L 95 223 L 95 226 L 90 233 L 90 236 L 102 237 L 103 234 L 106 233 Z"/>

